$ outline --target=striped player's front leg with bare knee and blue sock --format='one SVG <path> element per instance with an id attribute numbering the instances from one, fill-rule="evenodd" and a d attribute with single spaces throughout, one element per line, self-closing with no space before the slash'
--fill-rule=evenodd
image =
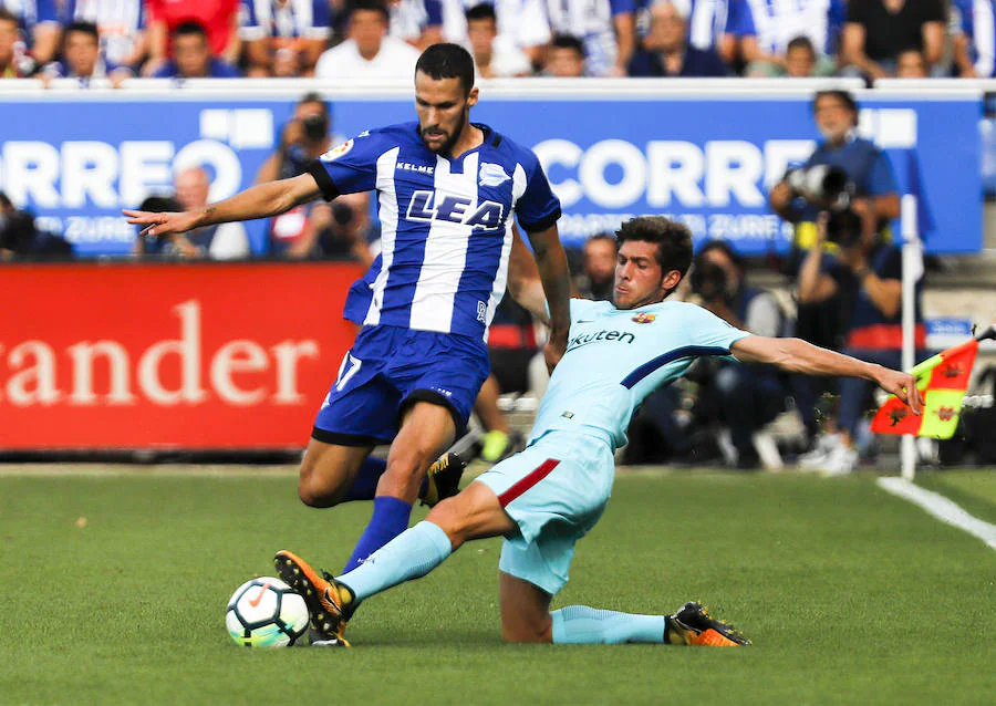
<path id="1" fill-rule="evenodd" d="M 416 402 L 408 408 L 391 445 L 387 468 L 377 484 L 373 516 L 343 573 L 359 567 L 408 528 L 412 505 L 422 489 L 426 470 L 453 444 L 455 436 L 456 424 L 448 407 Z"/>

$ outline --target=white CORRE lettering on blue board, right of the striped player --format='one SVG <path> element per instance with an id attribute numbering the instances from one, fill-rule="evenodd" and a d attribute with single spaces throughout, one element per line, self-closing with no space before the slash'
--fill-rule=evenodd
<path id="1" fill-rule="evenodd" d="M 766 204 L 766 185 L 812 153 L 808 139 L 691 142 L 634 145 L 603 139 L 588 148 L 567 139 L 533 147 L 563 208 L 588 200 L 602 208 L 741 207 Z M 568 176 L 563 176 L 564 172 Z M 552 174 L 551 174 L 552 173 Z"/>

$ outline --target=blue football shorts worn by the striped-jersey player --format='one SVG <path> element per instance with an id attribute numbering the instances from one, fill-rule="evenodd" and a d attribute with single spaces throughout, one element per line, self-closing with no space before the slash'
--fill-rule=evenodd
<path id="1" fill-rule="evenodd" d="M 416 402 L 449 409 L 463 434 L 489 372 L 484 341 L 398 326 L 364 326 L 339 367 L 311 436 L 340 446 L 390 444 Z"/>

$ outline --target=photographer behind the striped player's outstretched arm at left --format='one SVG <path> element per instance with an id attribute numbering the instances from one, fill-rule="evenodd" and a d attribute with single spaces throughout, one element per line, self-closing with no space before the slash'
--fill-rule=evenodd
<path id="1" fill-rule="evenodd" d="M 277 149 L 256 175 L 256 183 L 287 179 L 308 172 L 308 165 L 334 146 L 331 127 L 331 113 L 322 96 L 318 93 L 301 96 L 291 120 L 280 131 Z M 331 205 L 317 201 L 292 208 L 270 221 L 270 255 L 291 259 L 346 256 L 366 262 L 370 259 L 365 238 L 369 211 L 369 194 L 341 196 Z M 334 247 L 330 249 L 330 245 Z"/>

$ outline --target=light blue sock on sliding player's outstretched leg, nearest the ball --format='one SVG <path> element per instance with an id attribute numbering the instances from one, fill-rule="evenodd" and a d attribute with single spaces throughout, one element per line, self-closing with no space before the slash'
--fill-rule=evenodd
<path id="1" fill-rule="evenodd" d="M 336 578 L 356 602 L 398 583 L 421 579 L 453 553 L 449 537 L 438 525 L 422 521 L 381 547 L 366 561 Z M 663 627 L 661 629 L 663 631 Z"/>

